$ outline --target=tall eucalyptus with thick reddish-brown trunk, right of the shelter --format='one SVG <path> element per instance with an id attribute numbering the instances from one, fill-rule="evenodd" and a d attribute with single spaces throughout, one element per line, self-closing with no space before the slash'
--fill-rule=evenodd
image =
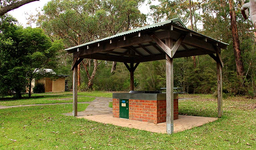
<path id="1" fill-rule="evenodd" d="M 205 33 L 226 43 L 232 43 L 237 76 L 243 78 L 244 64 L 241 52 L 243 47 L 240 46 L 240 41 L 250 38 L 248 30 L 251 27 L 247 22 L 242 21 L 239 12 L 241 4 L 233 0 L 207 0 L 203 6 L 203 25 Z"/>

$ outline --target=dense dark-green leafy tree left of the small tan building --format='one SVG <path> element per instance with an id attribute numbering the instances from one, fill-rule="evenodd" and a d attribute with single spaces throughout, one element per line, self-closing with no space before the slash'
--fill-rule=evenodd
<path id="1" fill-rule="evenodd" d="M 40 28 L 16 26 L 9 16 L 2 19 L 1 27 L 1 93 L 15 92 L 20 98 L 28 90 L 30 96 L 32 80 L 42 75 L 37 71 L 56 65 L 62 43 L 52 43 Z"/>

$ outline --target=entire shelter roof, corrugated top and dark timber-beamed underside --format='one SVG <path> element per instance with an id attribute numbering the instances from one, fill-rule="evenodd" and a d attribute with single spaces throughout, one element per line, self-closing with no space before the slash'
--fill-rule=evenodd
<path id="1" fill-rule="evenodd" d="M 160 43 L 171 38 L 179 47 L 172 58 L 216 54 L 227 49 L 227 43 L 188 29 L 179 18 L 121 32 L 68 49 L 76 58 L 138 63 L 165 59 L 166 50 Z M 178 44 L 177 44 L 178 45 Z"/>

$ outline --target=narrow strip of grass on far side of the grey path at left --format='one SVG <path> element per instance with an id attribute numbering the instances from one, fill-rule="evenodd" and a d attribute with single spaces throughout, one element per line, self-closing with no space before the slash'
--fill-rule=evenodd
<path id="1" fill-rule="evenodd" d="M 47 94 L 36 94 L 36 96 L 44 96 L 40 98 L 31 98 L 31 99 L 19 99 L 19 100 L 8 100 L 0 101 L 0 105 L 4 106 L 15 106 L 15 105 L 30 105 L 30 104 L 53 104 L 53 103 L 72 103 L 72 96 L 68 95 L 47 95 Z M 35 95 L 33 95 L 35 96 Z M 78 97 L 78 102 L 90 102 L 93 101 L 94 97 Z"/>

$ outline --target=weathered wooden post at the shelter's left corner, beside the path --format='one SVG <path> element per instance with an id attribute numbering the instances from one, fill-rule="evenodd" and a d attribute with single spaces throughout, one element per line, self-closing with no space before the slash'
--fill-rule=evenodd
<path id="1" fill-rule="evenodd" d="M 77 66 L 73 68 L 73 116 L 77 116 Z"/>

